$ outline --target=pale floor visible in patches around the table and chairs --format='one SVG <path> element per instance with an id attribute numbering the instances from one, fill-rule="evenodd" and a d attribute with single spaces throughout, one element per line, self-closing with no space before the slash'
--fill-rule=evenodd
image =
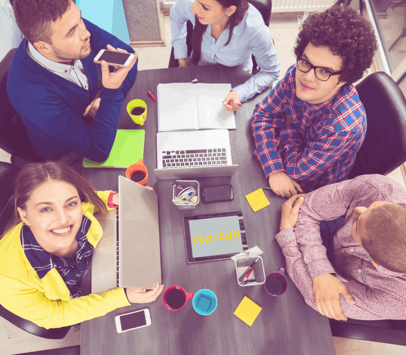
<path id="1" fill-rule="evenodd" d="M 302 13 L 275 13 L 272 15 L 269 26 L 270 35 L 275 42 L 278 57 L 281 61 L 281 77 L 283 77 L 287 68 L 295 62 L 292 48 L 299 29 L 296 18 L 298 14 Z M 139 51 L 139 70 L 167 67 L 171 54 L 171 27 L 168 17 L 164 19 L 164 26 L 166 47 L 137 49 Z M 10 156 L 0 151 L 0 161 L 10 162 Z M 393 171 L 389 176 L 399 184 L 405 186 L 400 168 Z M 337 355 L 406 354 L 406 347 L 400 345 L 337 337 L 333 337 L 333 340 Z M 80 345 L 80 341 L 80 330 L 74 328 L 71 328 L 64 339 L 48 340 L 30 335 L 0 317 L 0 355 L 15 355 L 29 352 L 35 352 L 35 355 L 59 355 L 56 352 L 50 354 L 48 351 L 41 352 L 41 350 Z"/>

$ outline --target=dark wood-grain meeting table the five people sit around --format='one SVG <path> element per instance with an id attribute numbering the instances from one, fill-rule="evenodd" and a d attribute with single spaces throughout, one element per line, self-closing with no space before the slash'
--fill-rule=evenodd
<path id="1" fill-rule="evenodd" d="M 159 200 L 159 228 L 161 244 L 162 282 L 166 287 L 182 286 L 187 292 L 212 290 L 218 299 L 214 313 L 197 314 L 191 301 L 179 311 L 170 311 L 162 303 L 162 296 L 153 303 L 132 304 L 118 308 L 105 316 L 82 323 L 82 355 L 146 354 L 146 355 L 222 355 L 276 354 L 329 355 L 335 354 L 328 318 L 308 306 L 300 292 L 288 278 L 287 292 L 281 297 L 265 293 L 263 286 L 241 287 L 236 281 L 232 260 L 188 264 L 183 234 L 183 217 L 213 212 L 242 210 L 248 246 L 258 245 L 264 252 L 265 274 L 285 267 L 285 258 L 275 239 L 279 231 L 281 205 L 285 199 L 265 191 L 270 205 L 253 212 L 245 195 L 267 186 L 258 161 L 252 156 L 254 140 L 250 119 L 255 107 L 269 90 L 255 96 L 236 112 L 237 129 L 230 130 L 233 164 L 240 164 L 231 177 L 196 179 L 200 188 L 231 184 L 234 199 L 227 202 L 200 203 L 194 210 L 179 210 L 172 203 L 171 181 L 157 181 L 153 169 L 156 160 L 157 105 L 147 95 L 156 95 L 159 83 L 190 82 L 197 78 L 202 83 L 231 83 L 232 87 L 245 82 L 251 75 L 233 68 L 199 66 L 143 70 L 125 98 L 119 128 L 145 129 L 144 161 L 149 171 L 149 186 L 154 186 Z M 147 103 L 147 121 L 135 125 L 126 113 L 127 103 L 135 98 Z M 85 179 L 98 190 L 117 189 L 119 174 L 124 169 L 84 169 Z M 90 293 L 90 274 L 82 280 L 82 295 Z M 260 307 L 261 312 L 249 327 L 233 315 L 244 296 Z M 118 314 L 148 307 L 152 325 L 118 334 L 114 317 Z"/>

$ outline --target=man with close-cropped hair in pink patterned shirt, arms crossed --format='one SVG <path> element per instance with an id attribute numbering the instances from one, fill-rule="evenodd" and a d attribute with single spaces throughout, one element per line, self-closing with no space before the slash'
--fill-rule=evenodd
<path id="1" fill-rule="evenodd" d="M 321 314 L 406 319 L 406 190 L 389 177 L 293 196 L 276 239 L 289 276 Z"/>

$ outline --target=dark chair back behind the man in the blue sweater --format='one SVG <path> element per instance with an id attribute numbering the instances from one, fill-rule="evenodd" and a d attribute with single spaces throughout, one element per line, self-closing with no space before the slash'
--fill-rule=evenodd
<path id="1" fill-rule="evenodd" d="M 7 75 L 17 48 L 11 49 L 0 62 L 0 149 L 30 161 L 44 159 L 34 153 L 27 130 L 7 95 Z"/>

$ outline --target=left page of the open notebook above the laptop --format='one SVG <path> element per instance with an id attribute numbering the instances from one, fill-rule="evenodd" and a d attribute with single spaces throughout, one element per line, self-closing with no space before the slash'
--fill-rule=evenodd
<path id="1" fill-rule="evenodd" d="M 159 132 L 199 129 L 193 84 L 158 84 L 157 100 Z"/>

